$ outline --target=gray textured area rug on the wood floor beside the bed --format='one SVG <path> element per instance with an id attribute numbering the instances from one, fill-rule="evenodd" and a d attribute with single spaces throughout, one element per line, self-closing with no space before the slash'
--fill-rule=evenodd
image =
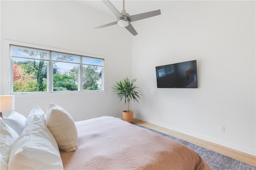
<path id="1" fill-rule="evenodd" d="M 164 134 L 162 132 L 158 132 L 156 130 L 153 130 L 153 129 L 150 129 L 150 128 L 147 128 L 147 127 L 143 127 L 143 126 L 135 124 L 135 123 L 133 123 L 133 124 L 138 126 L 138 127 L 146 128 L 146 129 L 148 129 L 152 132 L 155 132 L 157 134 L 160 134 L 162 136 L 165 136 L 165 137 L 170 138 L 172 140 L 175 140 L 177 142 L 180 142 L 184 146 L 194 150 L 205 160 L 205 162 L 208 164 L 208 166 L 211 168 L 211 170 L 256 170 L 255 166 L 252 166 L 252 165 L 246 164 L 244 162 L 235 160 L 235 159 L 230 158 L 228 156 L 225 156 L 223 154 L 219 154 L 219 153 L 214 152 L 212 150 L 203 148 L 201 146 L 198 146 L 196 144 L 192 144 L 190 142 L 186 142 L 184 140 L 175 138 L 175 137 L 170 136 L 168 134 Z"/>

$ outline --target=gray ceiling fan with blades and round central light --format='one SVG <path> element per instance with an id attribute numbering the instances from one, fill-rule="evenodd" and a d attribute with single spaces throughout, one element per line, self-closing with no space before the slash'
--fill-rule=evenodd
<path id="1" fill-rule="evenodd" d="M 111 4 L 111 2 L 109 2 L 109 0 L 102 0 L 102 1 L 108 7 L 108 9 L 110 9 L 110 11 L 117 17 L 117 21 L 111 22 L 109 24 L 105 24 L 102 26 L 95 27 L 95 29 L 104 28 L 104 27 L 118 24 L 119 26 L 125 27 L 126 30 L 128 30 L 130 33 L 132 33 L 132 35 L 136 36 L 138 33 L 133 28 L 133 26 L 130 22 L 142 20 L 145 18 L 150 18 L 150 17 L 157 16 L 157 15 L 161 14 L 160 10 L 155 10 L 155 11 L 150 11 L 150 12 L 145 12 L 145 13 L 130 16 L 128 13 L 126 13 L 126 10 L 124 10 L 124 0 L 123 0 L 123 10 L 121 13 Z"/>

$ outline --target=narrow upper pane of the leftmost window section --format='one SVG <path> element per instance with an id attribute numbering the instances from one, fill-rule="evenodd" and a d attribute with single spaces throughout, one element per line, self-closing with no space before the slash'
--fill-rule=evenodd
<path id="1" fill-rule="evenodd" d="M 35 59 L 47 59 L 47 52 L 39 51 L 36 49 L 22 49 L 14 47 L 12 55 L 15 57 L 27 57 Z"/>

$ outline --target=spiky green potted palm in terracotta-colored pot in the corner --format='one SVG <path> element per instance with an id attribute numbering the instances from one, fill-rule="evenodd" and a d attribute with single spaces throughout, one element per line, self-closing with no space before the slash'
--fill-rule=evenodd
<path id="1" fill-rule="evenodd" d="M 136 79 L 128 79 L 127 77 L 123 80 L 117 81 L 114 87 L 112 87 L 113 92 L 116 94 L 117 98 L 124 99 L 124 103 L 127 103 L 127 110 L 123 111 L 123 120 L 132 123 L 133 121 L 133 111 L 129 110 L 130 101 L 138 101 L 137 98 L 140 98 L 140 92 L 138 87 L 134 84 Z M 119 101 L 119 103 L 120 103 Z"/>

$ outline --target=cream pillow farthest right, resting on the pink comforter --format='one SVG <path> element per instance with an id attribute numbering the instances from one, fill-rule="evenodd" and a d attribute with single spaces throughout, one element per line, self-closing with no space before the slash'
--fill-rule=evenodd
<path id="1" fill-rule="evenodd" d="M 71 152 L 78 146 L 78 133 L 73 118 L 58 105 L 51 104 L 46 113 L 46 126 L 60 149 Z"/>

